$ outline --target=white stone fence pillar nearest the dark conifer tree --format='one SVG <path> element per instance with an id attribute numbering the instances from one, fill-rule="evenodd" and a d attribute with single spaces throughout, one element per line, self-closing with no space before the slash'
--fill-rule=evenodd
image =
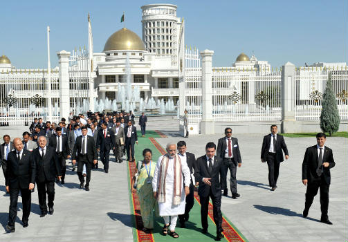
<path id="1" fill-rule="evenodd" d="M 282 67 L 282 133 L 293 133 L 295 122 L 295 65 L 286 62 Z"/>

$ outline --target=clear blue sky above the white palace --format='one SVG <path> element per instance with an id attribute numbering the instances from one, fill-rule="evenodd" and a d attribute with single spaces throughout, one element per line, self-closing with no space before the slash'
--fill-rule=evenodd
<path id="1" fill-rule="evenodd" d="M 1 1 L 0 55 L 17 68 L 46 68 L 46 26 L 51 28 L 51 66 L 59 50 L 88 45 L 91 13 L 95 52 L 126 27 L 141 37 L 140 6 L 173 3 L 185 18 L 185 42 L 214 50 L 213 66 L 231 66 L 239 53 L 268 60 L 347 62 L 348 1 Z"/>

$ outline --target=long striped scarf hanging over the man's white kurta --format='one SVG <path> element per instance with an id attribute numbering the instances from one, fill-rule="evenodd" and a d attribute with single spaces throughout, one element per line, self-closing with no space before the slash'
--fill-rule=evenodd
<path id="1" fill-rule="evenodd" d="M 168 155 L 163 156 L 160 167 L 160 183 L 158 185 L 158 203 L 165 203 L 165 178 L 169 162 Z M 178 205 L 181 202 L 181 191 L 183 187 L 183 176 L 181 175 L 181 160 L 178 154 L 174 156 L 174 196 L 173 204 Z"/>

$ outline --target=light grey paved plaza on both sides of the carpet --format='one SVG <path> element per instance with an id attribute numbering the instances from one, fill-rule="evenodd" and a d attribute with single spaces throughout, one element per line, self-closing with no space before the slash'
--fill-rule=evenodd
<path id="1" fill-rule="evenodd" d="M 160 128 L 161 127 L 161 128 Z M 27 127 L 26 127 L 27 128 Z M 163 146 L 167 142 L 185 140 L 188 151 L 196 157 L 204 154 L 205 143 L 217 142 L 221 136 L 178 136 L 178 124 L 166 120 L 148 125 L 160 129 L 167 138 L 156 138 Z M 25 129 L 1 127 L 0 136 L 9 133 L 20 136 Z M 237 200 L 223 197 L 221 210 L 248 241 L 345 241 L 347 239 L 347 138 L 328 138 L 336 167 L 331 169 L 329 218 L 333 225 L 318 222 L 319 197 L 315 198 L 309 218 L 302 218 L 306 187 L 301 183 L 301 164 L 306 147 L 315 145 L 315 138 L 285 138 L 290 159 L 280 167 L 278 189 L 268 189 L 268 169 L 259 159 L 262 136 L 238 134 L 243 165 L 237 171 Z M 1 141 L 2 142 L 2 141 Z M 130 215 L 127 166 L 111 162 L 109 174 L 92 171 L 91 191 L 78 189 L 77 175 L 68 171 L 66 184 L 56 185 L 55 214 L 39 218 L 37 191 L 33 193 L 29 227 L 16 223 L 16 232 L 0 232 L 0 241 L 133 241 L 133 216 Z M 0 223 L 8 221 L 9 197 L 5 194 L 0 174 Z M 125 194 L 125 196 L 123 196 Z M 229 194 L 230 195 L 230 194 Z M 21 198 L 19 204 L 21 205 Z M 200 225 L 197 225 L 200 227 Z M 1 230 L 0 230 L 1 231 Z"/>

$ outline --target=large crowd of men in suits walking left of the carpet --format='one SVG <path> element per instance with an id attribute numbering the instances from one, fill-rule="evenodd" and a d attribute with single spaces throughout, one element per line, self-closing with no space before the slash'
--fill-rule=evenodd
<path id="1" fill-rule="evenodd" d="M 35 183 L 39 196 L 40 216 L 53 214 L 55 183 L 65 183 L 66 160 L 71 158 L 72 171 L 77 169 L 80 188 L 89 191 L 91 170 L 98 169 L 98 153 L 105 173 L 109 172 L 109 153 L 113 150 L 116 162 L 134 162 L 134 144 L 138 143 L 135 115 L 125 113 L 87 113 L 69 115 L 68 124 L 44 122 L 35 118 L 23 139 L 11 141 L 9 135 L 3 136 L 0 146 L 0 165 L 5 177 L 6 192 L 10 194 L 9 221 L 6 229 L 15 232 L 17 201 L 21 194 L 23 203 L 23 226 L 28 226 L 31 192 Z M 145 126 L 144 113 L 139 118 L 140 127 Z M 30 191 L 31 190 L 31 191 Z M 48 200 L 48 203 L 46 201 Z"/>

